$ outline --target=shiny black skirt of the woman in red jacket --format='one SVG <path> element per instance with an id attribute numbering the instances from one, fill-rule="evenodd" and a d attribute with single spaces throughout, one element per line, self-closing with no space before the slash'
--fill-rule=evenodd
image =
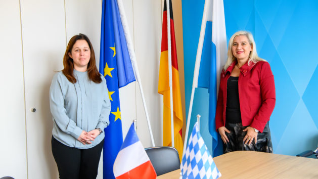
<path id="1" fill-rule="evenodd" d="M 248 145 L 244 144 L 243 139 L 247 131 L 243 131 L 247 126 L 242 126 L 242 123 L 226 123 L 225 127 L 231 131 L 231 133 L 225 132 L 230 142 L 223 144 L 223 153 L 233 152 L 233 151 L 258 151 L 272 153 L 272 144 L 270 138 L 270 130 L 268 122 L 266 123 L 263 132 L 258 132 L 257 134 L 257 144 L 253 142 Z"/>

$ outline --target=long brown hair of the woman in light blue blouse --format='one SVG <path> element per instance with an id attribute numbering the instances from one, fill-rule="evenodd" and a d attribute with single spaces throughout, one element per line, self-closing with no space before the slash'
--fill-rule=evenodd
<path id="1" fill-rule="evenodd" d="M 88 43 L 88 46 L 90 49 L 90 59 L 87 64 L 88 79 L 91 81 L 94 81 L 95 83 L 101 83 L 102 78 L 96 67 L 95 52 L 94 52 L 92 43 L 90 43 L 88 37 L 82 33 L 78 35 L 74 35 L 67 44 L 67 48 L 63 58 L 63 66 L 64 66 L 64 69 L 62 70 L 63 74 L 71 83 L 76 83 L 76 78 L 74 77 L 74 74 L 73 74 L 73 69 L 74 69 L 73 59 L 68 54 L 71 53 L 73 46 L 77 40 L 85 40 Z"/>

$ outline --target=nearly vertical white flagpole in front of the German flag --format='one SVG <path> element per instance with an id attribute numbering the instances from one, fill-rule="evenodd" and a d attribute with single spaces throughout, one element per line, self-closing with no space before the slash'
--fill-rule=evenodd
<path id="1" fill-rule="evenodd" d="M 168 66 L 169 66 L 169 87 L 170 87 L 170 120 L 171 120 L 171 146 L 174 147 L 173 127 L 173 93 L 172 93 L 172 63 L 171 63 L 171 31 L 170 31 L 170 0 L 167 0 L 167 29 L 168 29 Z"/>

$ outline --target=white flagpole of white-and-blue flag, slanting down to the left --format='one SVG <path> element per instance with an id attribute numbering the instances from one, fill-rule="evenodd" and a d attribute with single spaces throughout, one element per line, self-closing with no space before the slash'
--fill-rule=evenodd
<path id="1" fill-rule="evenodd" d="M 192 113 L 192 105 L 193 105 L 193 98 L 194 98 L 194 91 L 195 91 L 195 88 L 198 87 L 198 76 L 199 76 L 199 73 L 196 73 L 196 72 L 199 71 L 199 69 L 200 69 L 200 61 L 201 61 L 201 55 L 202 55 L 206 19 L 207 19 L 207 13 L 208 13 L 209 6 L 210 6 L 210 0 L 206 0 L 205 3 L 204 3 L 204 10 L 203 10 L 202 23 L 201 23 L 199 44 L 198 44 L 198 50 L 197 50 L 197 56 L 196 56 L 196 64 L 195 64 L 195 67 L 194 67 L 193 84 L 192 84 L 191 100 L 190 100 L 190 106 L 189 106 L 189 112 L 188 112 L 188 118 L 187 118 L 187 129 L 186 129 L 186 136 L 185 136 L 183 155 L 186 154 L 188 135 L 189 135 L 189 127 L 190 127 L 190 120 L 191 120 L 191 113 Z"/>

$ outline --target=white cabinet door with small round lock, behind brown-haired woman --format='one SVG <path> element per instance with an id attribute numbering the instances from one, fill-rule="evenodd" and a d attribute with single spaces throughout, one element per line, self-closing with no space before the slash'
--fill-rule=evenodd
<path id="1" fill-rule="evenodd" d="M 57 178 L 49 89 L 66 49 L 63 0 L 21 0 L 28 178 Z M 35 112 L 30 109 L 35 108 Z"/>

